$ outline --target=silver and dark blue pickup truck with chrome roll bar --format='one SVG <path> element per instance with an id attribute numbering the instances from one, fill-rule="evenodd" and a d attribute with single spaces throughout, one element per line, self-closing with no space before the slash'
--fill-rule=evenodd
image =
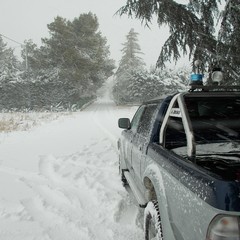
<path id="1" fill-rule="evenodd" d="M 145 239 L 240 239 L 240 89 L 191 87 L 120 118 L 121 180 Z"/>

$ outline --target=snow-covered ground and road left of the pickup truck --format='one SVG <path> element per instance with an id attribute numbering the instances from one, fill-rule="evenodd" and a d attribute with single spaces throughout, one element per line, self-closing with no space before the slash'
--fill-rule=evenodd
<path id="1" fill-rule="evenodd" d="M 0 134 L 0 239 L 143 239 L 118 175 L 116 107 L 106 91 L 81 112 Z"/>

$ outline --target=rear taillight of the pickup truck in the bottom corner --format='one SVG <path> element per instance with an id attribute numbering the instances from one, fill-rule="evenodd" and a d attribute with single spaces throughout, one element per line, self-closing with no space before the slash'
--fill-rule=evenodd
<path id="1" fill-rule="evenodd" d="M 216 216 L 208 227 L 206 240 L 240 240 L 239 217 Z"/>

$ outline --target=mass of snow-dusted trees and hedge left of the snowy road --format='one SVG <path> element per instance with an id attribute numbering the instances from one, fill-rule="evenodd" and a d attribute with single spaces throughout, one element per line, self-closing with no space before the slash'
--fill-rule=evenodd
<path id="1" fill-rule="evenodd" d="M 47 27 L 50 36 L 42 46 L 25 41 L 22 62 L 0 36 L 2 111 L 77 109 L 113 74 L 115 63 L 95 15 L 73 21 L 58 16 Z"/>

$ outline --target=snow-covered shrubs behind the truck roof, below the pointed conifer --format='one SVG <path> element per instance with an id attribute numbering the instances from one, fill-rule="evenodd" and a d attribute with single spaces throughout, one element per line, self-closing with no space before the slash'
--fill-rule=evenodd
<path id="1" fill-rule="evenodd" d="M 190 70 L 186 68 L 132 71 L 124 81 L 116 81 L 114 100 L 117 104 L 138 104 L 184 90 L 188 85 L 189 73 Z"/>

